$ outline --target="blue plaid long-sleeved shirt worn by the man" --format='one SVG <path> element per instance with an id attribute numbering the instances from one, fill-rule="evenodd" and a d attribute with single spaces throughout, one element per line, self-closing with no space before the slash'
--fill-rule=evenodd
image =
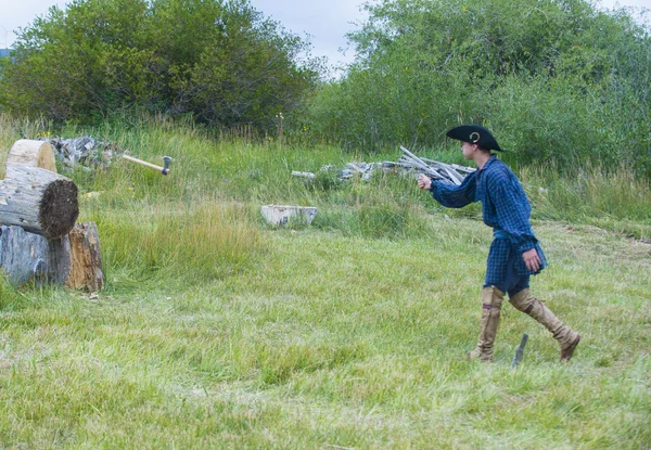
<path id="1" fill-rule="evenodd" d="M 432 181 L 432 196 L 448 208 L 461 208 L 482 202 L 484 223 L 493 227 L 495 241 L 488 254 L 486 283 L 503 280 L 507 272 L 532 275 L 547 267 L 547 259 L 529 222 L 532 207 L 526 194 L 511 169 L 495 155 L 480 170 L 468 175 L 461 185 Z M 526 268 L 522 254 L 536 248 L 540 270 Z"/>

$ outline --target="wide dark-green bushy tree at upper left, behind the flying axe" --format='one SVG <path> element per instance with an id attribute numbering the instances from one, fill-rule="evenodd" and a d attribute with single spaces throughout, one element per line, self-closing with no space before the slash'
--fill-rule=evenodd
<path id="1" fill-rule="evenodd" d="M 138 107 L 271 126 L 316 81 L 307 47 L 246 0 L 74 0 L 21 31 L 0 103 L 60 121 Z"/>

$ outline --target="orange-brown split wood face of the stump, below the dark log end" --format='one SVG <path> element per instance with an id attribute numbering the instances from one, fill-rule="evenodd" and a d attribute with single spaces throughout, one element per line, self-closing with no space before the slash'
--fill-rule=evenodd
<path id="1" fill-rule="evenodd" d="M 98 292 L 104 287 L 100 236 L 94 222 L 77 223 L 68 234 L 69 271 L 65 285 Z"/>

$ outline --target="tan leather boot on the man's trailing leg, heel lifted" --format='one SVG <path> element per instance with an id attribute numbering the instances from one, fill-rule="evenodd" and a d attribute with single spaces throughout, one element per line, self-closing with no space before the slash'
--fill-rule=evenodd
<path id="1" fill-rule="evenodd" d="M 515 309 L 529 314 L 540 322 L 553 335 L 561 346 L 561 362 L 570 361 L 574 349 L 580 340 L 578 333 L 573 332 L 564 325 L 542 301 L 531 295 L 528 288 L 524 288 L 509 299 Z"/>

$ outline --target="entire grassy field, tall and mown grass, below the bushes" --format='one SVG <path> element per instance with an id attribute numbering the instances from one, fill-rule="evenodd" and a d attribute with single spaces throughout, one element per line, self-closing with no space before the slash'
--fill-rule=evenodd
<path id="1" fill-rule="evenodd" d="M 0 117 L 0 144 L 46 125 Z M 560 364 L 548 332 L 505 305 L 496 361 L 481 364 L 463 359 L 490 243 L 476 207 L 442 209 L 396 173 L 290 176 L 361 158 L 336 149 L 165 124 L 63 132 L 169 154 L 174 171 L 115 162 L 69 173 L 80 220 L 101 234 L 107 286 L 97 297 L 0 283 L 0 448 L 651 445 L 648 183 L 592 171 L 545 192 L 551 175 L 521 173 L 545 211 L 534 227 L 551 262 L 532 291 L 583 339 Z M 610 194 L 590 193 L 599 177 Z M 569 195 L 595 203 L 573 213 Z M 609 195 L 620 201 L 599 203 Z M 319 214 L 276 230 L 259 217 L 266 203 Z"/>

